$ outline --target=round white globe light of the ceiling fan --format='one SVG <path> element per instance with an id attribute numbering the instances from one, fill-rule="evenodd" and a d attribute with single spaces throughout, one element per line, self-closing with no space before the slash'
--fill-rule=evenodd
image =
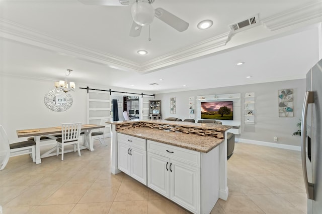
<path id="1" fill-rule="evenodd" d="M 148 26 L 153 22 L 154 9 L 152 5 L 145 0 L 139 0 L 131 8 L 133 21 L 140 26 Z"/>

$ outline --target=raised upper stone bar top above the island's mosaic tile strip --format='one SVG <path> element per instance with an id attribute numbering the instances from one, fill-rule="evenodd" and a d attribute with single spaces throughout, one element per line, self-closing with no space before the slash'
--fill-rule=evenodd
<path id="1" fill-rule="evenodd" d="M 123 120 L 123 121 L 112 121 L 112 122 L 106 122 L 106 123 L 119 125 L 119 124 L 137 123 L 137 122 L 204 128 L 204 129 L 218 130 L 218 131 L 227 131 L 228 129 L 232 128 L 232 126 L 221 125 L 217 123 L 191 123 L 191 122 L 169 121 L 169 120 Z"/>

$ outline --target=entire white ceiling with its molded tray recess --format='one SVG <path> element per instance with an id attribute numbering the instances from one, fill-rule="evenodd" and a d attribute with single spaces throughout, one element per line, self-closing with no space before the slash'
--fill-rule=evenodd
<path id="1" fill-rule="evenodd" d="M 130 7 L 0 0 L 1 72 L 58 80 L 72 69 L 68 79 L 78 84 L 160 93 L 305 78 L 318 60 L 321 1 L 155 0 L 152 6 L 185 20 L 188 30 L 155 18 L 149 42 L 148 27 L 128 36 Z M 260 25 L 230 32 L 230 24 L 255 14 Z M 204 19 L 214 25 L 197 29 Z"/>

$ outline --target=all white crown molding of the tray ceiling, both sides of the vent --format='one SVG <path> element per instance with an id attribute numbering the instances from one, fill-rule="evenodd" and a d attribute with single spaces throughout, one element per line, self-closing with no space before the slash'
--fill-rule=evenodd
<path id="1" fill-rule="evenodd" d="M 271 31 L 286 28 L 301 22 L 322 17 L 322 1 L 311 2 L 284 13 L 266 18 L 262 23 Z M 322 21 L 322 18 L 320 19 Z M 33 45 L 57 53 L 75 56 L 79 59 L 101 63 L 119 70 L 151 72 L 160 68 L 179 64 L 198 57 L 206 56 L 225 46 L 231 37 L 231 32 L 212 37 L 183 49 L 154 58 L 142 64 L 117 57 L 112 54 L 92 50 L 64 41 L 61 38 L 35 31 L 19 23 L 0 18 L 0 37 Z"/>

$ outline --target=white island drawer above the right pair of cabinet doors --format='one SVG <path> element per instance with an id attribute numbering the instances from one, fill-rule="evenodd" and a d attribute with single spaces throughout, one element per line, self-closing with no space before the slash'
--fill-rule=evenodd
<path id="1" fill-rule="evenodd" d="M 200 167 L 200 152 L 147 140 L 147 151 Z"/>

